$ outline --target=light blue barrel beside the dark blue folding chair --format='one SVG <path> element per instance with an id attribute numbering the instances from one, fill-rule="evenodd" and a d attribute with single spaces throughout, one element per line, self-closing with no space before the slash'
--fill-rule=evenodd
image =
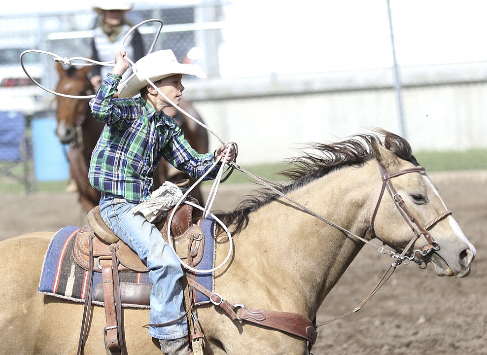
<path id="1" fill-rule="evenodd" d="M 66 157 L 68 147 L 61 144 L 54 133 L 56 120 L 49 117 L 35 118 L 31 127 L 36 180 L 67 180 L 70 176 Z"/>

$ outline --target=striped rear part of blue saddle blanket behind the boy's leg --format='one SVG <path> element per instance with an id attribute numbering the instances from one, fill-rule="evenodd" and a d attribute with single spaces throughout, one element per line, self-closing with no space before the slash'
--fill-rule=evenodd
<path id="1" fill-rule="evenodd" d="M 72 256 L 75 235 L 79 228 L 64 227 L 52 238 L 42 265 L 38 292 L 51 296 L 68 299 L 74 302 L 84 302 L 89 282 L 89 272 L 81 268 Z M 102 281 L 102 273 L 93 273 L 93 304 L 103 306 L 103 302 L 96 301 L 95 290 Z M 120 282 L 127 284 L 150 284 L 147 273 L 121 272 Z M 123 307 L 148 308 L 148 306 L 123 303 Z"/>

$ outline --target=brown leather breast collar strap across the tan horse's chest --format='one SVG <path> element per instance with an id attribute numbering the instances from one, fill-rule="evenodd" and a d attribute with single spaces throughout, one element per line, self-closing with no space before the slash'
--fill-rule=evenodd
<path id="1" fill-rule="evenodd" d="M 256 308 L 247 308 L 244 305 L 232 305 L 225 301 L 219 294 L 211 292 L 205 286 L 187 278 L 189 286 L 200 291 L 215 306 L 221 307 L 231 320 L 245 320 L 249 323 L 262 325 L 268 328 L 280 330 L 296 335 L 314 344 L 318 332 L 313 322 L 307 317 L 297 313 L 276 312 Z"/>

